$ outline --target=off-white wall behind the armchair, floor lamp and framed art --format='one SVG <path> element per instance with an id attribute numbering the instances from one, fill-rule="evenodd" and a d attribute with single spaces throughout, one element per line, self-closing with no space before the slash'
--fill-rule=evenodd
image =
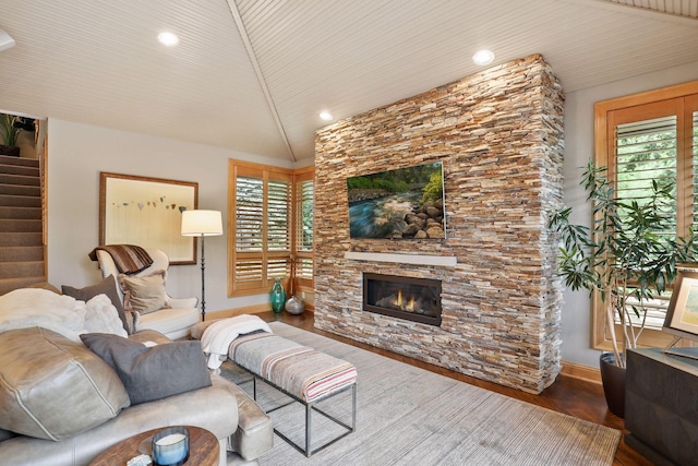
<path id="1" fill-rule="evenodd" d="M 99 241 L 100 171 L 197 182 L 198 207 L 221 211 L 225 226 L 229 158 L 292 168 L 280 159 L 55 119 L 48 131 L 48 278 L 59 288 L 101 279 L 87 258 Z M 206 310 L 267 302 L 267 295 L 227 298 L 226 238 L 206 239 Z M 201 297 L 201 267 L 171 266 L 167 288 L 173 297 Z"/>

